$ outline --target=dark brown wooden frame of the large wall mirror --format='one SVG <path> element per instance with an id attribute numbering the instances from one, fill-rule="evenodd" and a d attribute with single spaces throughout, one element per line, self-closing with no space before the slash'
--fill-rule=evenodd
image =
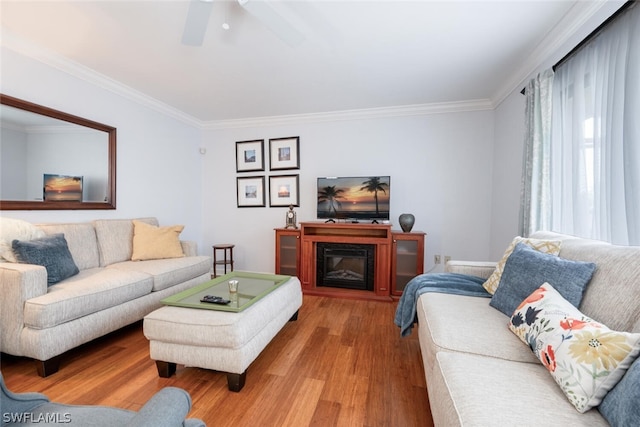
<path id="1" fill-rule="evenodd" d="M 106 183 L 107 196 L 104 202 L 0 200 L 0 210 L 88 210 L 116 208 L 116 128 L 8 95 L 0 94 L 0 104 L 106 132 L 109 143 L 108 177 Z"/>

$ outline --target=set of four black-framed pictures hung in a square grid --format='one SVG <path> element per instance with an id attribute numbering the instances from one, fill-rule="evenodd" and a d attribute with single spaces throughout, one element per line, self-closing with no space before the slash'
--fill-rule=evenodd
<path id="1" fill-rule="evenodd" d="M 300 169 L 300 137 L 269 139 L 269 171 Z M 236 142 L 236 172 L 264 172 L 264 139 Z M 236 177 L 239 208 L 266 206 L 269 194 L 270 207 L 300 206 L 300 175 L 268 175 L 269 189 L 265 191 L 264 175 Z"/>

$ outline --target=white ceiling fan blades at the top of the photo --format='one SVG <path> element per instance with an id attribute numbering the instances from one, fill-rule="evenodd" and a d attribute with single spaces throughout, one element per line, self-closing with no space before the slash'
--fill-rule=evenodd
<path id="1" fill-rule="evenodd" d="M 302 32 L 293 25 L 285 11 L 268 0 L 237 0 L 244 10 L 256 17 L 278 38 L 290 46 L 300 44 L 304 39 Z M 188 46 L 202 46 L 209 26 L 209 18 L 214 0 L 191 0 L 182 34 L 182 43 Z"/>

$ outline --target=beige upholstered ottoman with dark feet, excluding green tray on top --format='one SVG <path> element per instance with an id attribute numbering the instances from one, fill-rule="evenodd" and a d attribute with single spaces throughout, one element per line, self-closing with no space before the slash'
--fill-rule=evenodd
<path id="1" fill-rule="evenodd" d="M 176 364 L 212 369 L 226 372 L 237 392 L 249 365 L 301 306 L 300 280 L 292 277 L 238 313 L 165 306 L 145 316 L 143 330 L 161 377 Z"/>

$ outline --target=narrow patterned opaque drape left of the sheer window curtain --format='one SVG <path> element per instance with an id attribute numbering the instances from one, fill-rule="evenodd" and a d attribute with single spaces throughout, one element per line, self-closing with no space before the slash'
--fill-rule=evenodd
<path id="1" fill-rule="evenodd" d="M 525 140 L 520 195 L 520 235 L 549 228 L 551 209 L 551 90 L 553 70 L 531 79 L 525 88 Z"/>

